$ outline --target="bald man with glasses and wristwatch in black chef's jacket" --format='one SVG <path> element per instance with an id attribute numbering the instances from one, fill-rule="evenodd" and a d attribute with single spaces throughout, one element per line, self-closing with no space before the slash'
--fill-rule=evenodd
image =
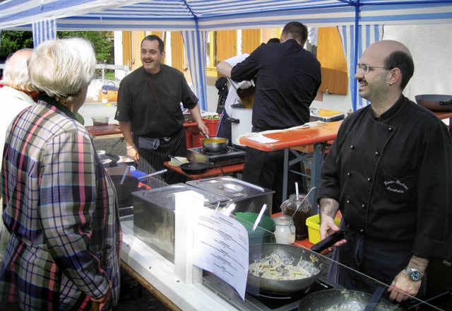
<path id="1" fill-rule="evenodd" d="M 339 228 L 338 261 L 386 283 L 400 302 L 422 295 L 429 260 L 452 252 L 452 139 L 432 112 L 402 92 L 414 72 L 405 45 L 370 45 L 357 65 L 359 96 L 370 105 L 348 116 L 323 163 L 320 233 Z M 374 293 L 377 284 L 338 267 L 341 286 Z M 427 277 L 428 279 L 428 277 Z"/>

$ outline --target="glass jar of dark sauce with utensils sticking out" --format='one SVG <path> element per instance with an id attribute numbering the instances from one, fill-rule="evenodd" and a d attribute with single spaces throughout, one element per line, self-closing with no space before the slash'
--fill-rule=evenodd
<path id="1" fill-rule="evenodd" d="M 312 216 L 312 206 L 306 194 L 299 194 L 298 197 L 297 194 L 290 194 L 289 199 L 281 204 L 281 211 L 283 211 L 283 215 L 292 216 L 297 240 L 307 238 L 308 227 L 306 225 L 306 218 Z"/>

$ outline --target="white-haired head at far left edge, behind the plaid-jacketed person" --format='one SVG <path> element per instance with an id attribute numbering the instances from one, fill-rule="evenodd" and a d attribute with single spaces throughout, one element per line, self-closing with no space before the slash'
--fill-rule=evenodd
<path id="1" fill-rule="evenodd" d="M 32 52 L 32 49 L 19 49 L 8 57 L 5 61 L 1 83 L 24 92 L 35 90 L 28 76 L 28 59 L 30 59 Z"/>

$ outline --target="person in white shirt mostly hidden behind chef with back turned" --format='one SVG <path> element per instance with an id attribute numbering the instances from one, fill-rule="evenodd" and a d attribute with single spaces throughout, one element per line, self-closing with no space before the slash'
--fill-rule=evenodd
<path id="1" fill-rule="evenodd" d="M 277 37 L 273 37 L 270 40 L 268 40 L 267 43 L 279 43 L 279 42 L 280 40 Z M 225 59 L 224 61 L 220 61 L 217 65 L 218 74 L 225 76 L 227 78 L 227 81 L 229 82 L 229 89 L 225 101 L 225 110 L 223 110 L 220 117 L 220 122 L 218 122 L 217 136 L 229 139 L 230 144 L 234 143 L 234 141 L 232 141 L 231 122 L 228 122 L 227 119 L 232 114 L 231 106 L 234 104 L 242 103 L 242 100 L 240 100 L 239 95 L 237 95 L 237 89 L 239 88 L 246 89 L 250 88 L 251 86 L 255 86 L 254 81 L 252 79 L 251 81 L 242 81 L 239 83 L 231 80 L 232 67 L 239 64 L 239 62 L 244 61 L 246 57 L 249 57 L 248 53 L 240 54 L 229 59 Z"/>

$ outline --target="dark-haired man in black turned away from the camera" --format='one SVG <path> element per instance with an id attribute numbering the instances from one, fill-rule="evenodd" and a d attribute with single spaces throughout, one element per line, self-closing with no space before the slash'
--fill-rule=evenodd
<path id="1" fill-rule="evenodd" d="M 252 115 L 254 132 L 287 129 L 309 122 L 309 106 L 321 84 L 320 63 L 304 49 L 308 30 L 297 21 L 287 23 L 281 43 L 263 44 L 234 66 L 234 81 L 256 78 Z M 243 180 L 273 189 L 273 213 L 283 203 L 284 151 L 265 152 L 246 147 Z M 299 181 L 290 173 L 288 184 Z M 286 194 L 287 195 L 287 194 Z"/>

